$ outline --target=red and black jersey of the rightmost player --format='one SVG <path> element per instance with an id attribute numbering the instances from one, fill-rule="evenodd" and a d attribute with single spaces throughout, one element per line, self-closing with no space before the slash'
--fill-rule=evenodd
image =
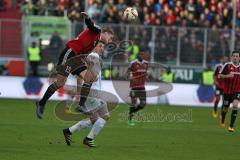
<path id="1" fill-rule="evenodd" d="M 228 75 L 233 74 L 232 78 L 224 78 L 223 92 L 224 94 L 235 94 L 240 92 L 240 65 L 234 65 L 233 63 L 224 64 L 221 74 Z"/>

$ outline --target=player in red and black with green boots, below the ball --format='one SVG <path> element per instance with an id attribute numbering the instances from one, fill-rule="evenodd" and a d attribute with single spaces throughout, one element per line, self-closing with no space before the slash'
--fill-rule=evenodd
<path id="1" fill-rule="evenodd" d="M 134 113 L 143 109 L 146 105 L 146 91 L 145 91 L 145 81 L 148 78 L 148 61 L 144 60 L 144 52 L 139 52 L 137 59 L 131 62 L 128 68 L 128 76 L 130 78 L 130 97 L 131 106 L 129 108 L 129 118 L 128 124 L 135 125 L 132 120 Z M 137 99 L 139 98 L 140 103 L 137 104 Z"/>

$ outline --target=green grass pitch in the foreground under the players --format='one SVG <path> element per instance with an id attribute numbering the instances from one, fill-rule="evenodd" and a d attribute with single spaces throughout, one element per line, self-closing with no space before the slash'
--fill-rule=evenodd
<path id="1" fill-rule="evenodd" d="M 122 121 L 128 108 L 121 105 L 96 138 L 97 148 L 82 144 L 89 130 L 64 143 L 62 129 L 74 122 L 59 121 L 53 115 L 56 102 L 47 104 L 43 120 L 35 116 L 34 101 L 0 99 L 1 160 L 238 160 L 240 128 L 229 133 L 219 127 L 211 110 L 190 107 L 147 107 L 144 113 L 192 111 L 193 122 L 141 122 L 130 127 Z M 228 113 L 227 122 L 229 122 Z M 237 126 L 237 124 L 236 124 Z M 239 129 L 239 130 L 238 130 Z"/>

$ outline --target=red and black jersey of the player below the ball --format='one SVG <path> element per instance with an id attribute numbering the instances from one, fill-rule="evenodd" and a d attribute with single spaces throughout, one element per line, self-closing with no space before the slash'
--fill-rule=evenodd
<path id="1" fill-rule="evenodd" d="M 147 78 L 148 61 L 138 59 L 131 62 L 129 67 L 132 78 L 130 80 L 130 88 L 145 88 Z"/>

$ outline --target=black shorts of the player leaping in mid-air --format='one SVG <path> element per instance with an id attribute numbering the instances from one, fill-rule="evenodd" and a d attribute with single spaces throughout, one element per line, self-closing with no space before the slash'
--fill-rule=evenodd
<path id="1" fill-rule="evenodd" d="M 68 76 L 70 73 L 79 75 L 82 71 L 86 70 L 85 55 L 75 55 L 71 48 L 66 47 L 57 63 L 57 73 L 63 76 Z"/>

